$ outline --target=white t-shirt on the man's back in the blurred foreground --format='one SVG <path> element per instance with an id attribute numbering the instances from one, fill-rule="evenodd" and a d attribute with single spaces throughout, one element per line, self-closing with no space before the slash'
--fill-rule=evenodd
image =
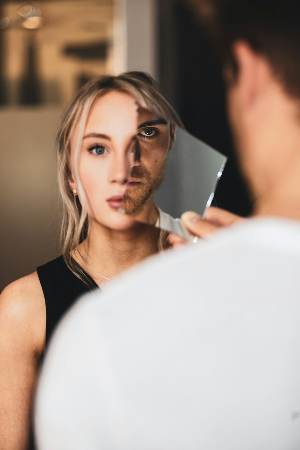
<path id="1" fill-rule="evenodd" d="M 120 277 L 59 325 L 40 450 L 300 448 L 300 223 L 251 219 Z"/>

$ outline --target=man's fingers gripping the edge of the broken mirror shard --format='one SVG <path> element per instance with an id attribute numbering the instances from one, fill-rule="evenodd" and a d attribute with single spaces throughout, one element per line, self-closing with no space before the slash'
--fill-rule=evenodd
<path id="1" fill-rule="evenodd" d="M 205 238 L 207 234 L 236 224 L 244 220 L 244 218 L 221 208 L 210 207 L 206 211 L 205 218 L 199 216 L 196 212 L 187 211 L 181 216 L 181 220 L 191 236 Z M 175 233 L 170 234 L 169 242 L 173 247 L 188 243 L 188 241 Z"/>

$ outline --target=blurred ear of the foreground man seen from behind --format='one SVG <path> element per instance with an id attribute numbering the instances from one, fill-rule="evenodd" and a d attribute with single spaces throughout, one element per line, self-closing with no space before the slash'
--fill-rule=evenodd
<path id="1" fill-rule="evenodd" d="M 261 69 L 265 66 L 265 60 L 242 40 L 234 42 L 233 56 L 237 63 L 237 80 L 234 85 L 239 92 L 242 105 L 248 107 L 255 101 L 260 91 Z"/>

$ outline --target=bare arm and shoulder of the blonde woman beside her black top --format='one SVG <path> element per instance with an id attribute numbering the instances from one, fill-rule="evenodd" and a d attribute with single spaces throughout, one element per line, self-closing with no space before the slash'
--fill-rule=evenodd
<path id="1" fill-rule="evenodd" d="M 46 310 L 36 272 L 0 295 L 0 449 L 28 446 Z"/>

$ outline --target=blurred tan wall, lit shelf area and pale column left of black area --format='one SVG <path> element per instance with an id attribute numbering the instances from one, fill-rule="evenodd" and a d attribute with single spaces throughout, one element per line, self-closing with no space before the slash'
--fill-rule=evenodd
<path id="1" fill-rule="evenodd" d="M 54 138 L 96 75 L 157 75 L 152 0 L 0 2 L 0 289 L 60 254 Z"/>

